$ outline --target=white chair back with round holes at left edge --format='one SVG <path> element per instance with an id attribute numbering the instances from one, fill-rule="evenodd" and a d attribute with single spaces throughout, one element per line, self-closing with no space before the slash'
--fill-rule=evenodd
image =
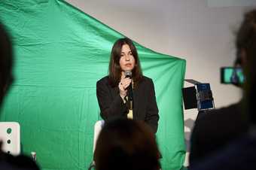
<path id="1" fill-rule="evenodd" d="M 17 122 L 0 122 L 0 141 L 2 151 L 14 156 L 20 154 L 20 124 Z"/>

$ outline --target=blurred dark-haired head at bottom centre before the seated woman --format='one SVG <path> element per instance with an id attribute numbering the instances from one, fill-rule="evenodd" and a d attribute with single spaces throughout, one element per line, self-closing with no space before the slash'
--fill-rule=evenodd
<path id="1" fill-rule="evenodd" d="M 99 134 L 94 153 L 96 170 L 157 170 L 159 150 L 154 133 L 145 123 L 114 120 Z"/>

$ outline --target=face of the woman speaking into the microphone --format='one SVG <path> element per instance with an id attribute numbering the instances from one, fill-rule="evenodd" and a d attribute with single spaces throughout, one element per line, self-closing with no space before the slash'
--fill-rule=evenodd
<path id="1" fill-rule="evenodd" d="M 132 71 L 134 68 L 135 59 L 128 44 L 123 44 L 122 46 L 119 64 L 122 71 Z"/>

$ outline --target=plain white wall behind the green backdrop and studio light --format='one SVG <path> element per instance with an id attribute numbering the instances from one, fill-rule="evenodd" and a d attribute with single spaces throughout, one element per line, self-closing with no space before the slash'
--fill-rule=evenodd
<path id="1" fill-rule="evenodd" d="M 160 53 L 187 60 L 186 78 L 211 83 L 219 108 L 240 99 L 240 91 L 220 83 L 221 66 L 233 65 L 233 32 L 251 0 L 67 0 L 86 14 Z M 221 4 L 222 3 L 222 4 Z M 185 86 L 190 86 L 186 83 Z M 196 110 L 184 111 L 188 140 Z"/>

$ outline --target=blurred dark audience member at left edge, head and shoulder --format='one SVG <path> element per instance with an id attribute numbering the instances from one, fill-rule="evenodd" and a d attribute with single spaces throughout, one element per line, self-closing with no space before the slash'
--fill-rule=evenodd
<path id="1" fill-rule="evenodd" d="M 0 23 L 0 110 L 5 95 L 13 81 L 13 51 L 11 39 L 5 31 L 4 26 Z M 1 150 L 2 142 L 0 141 L 0 169 L 16 170 L 16 169 L 39 169 L 38 165 L 27 156 L 12 156 Z"/>

